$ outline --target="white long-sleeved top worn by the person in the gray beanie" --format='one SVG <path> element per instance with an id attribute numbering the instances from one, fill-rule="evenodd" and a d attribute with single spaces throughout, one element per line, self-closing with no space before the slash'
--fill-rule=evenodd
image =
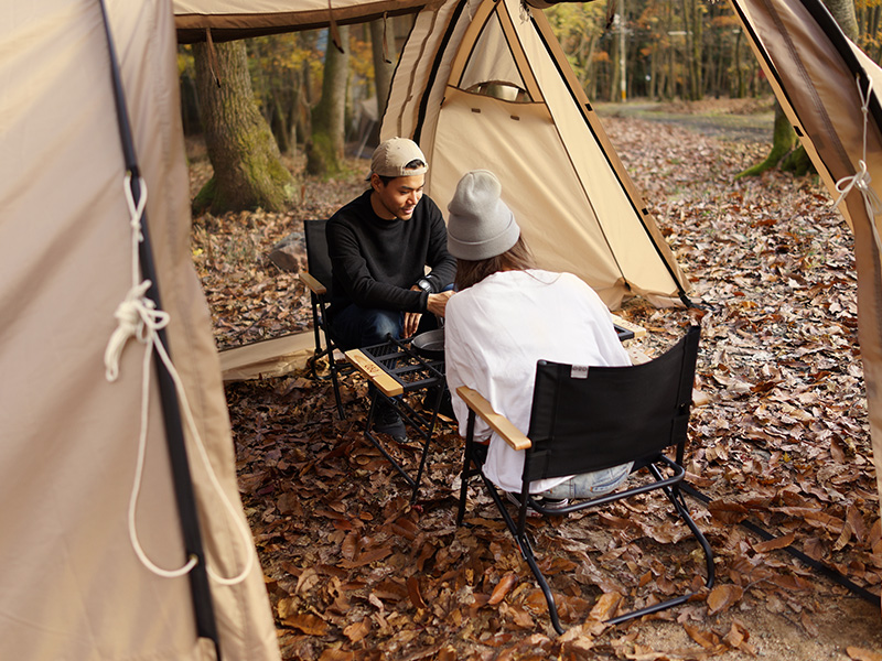
<path id="1" fill-rule="evenodd" d="M 624 366 L 631 360 L 609 310 L 571 273 L 503 271 L 455 293 L 447 305 L 444 360 L 453 411 L 465 435 L 469 410 L 456 395 L 467 386 L 525 434 L 529 430 L 536 362 Z M 475 437 L 490 427 L 475 421 Z M 524 453 L 496 434 L 490 440 L 484 475 L 506 491 L 520 491 Z M 537 494 L 572 476 L 535 480 Z"/>

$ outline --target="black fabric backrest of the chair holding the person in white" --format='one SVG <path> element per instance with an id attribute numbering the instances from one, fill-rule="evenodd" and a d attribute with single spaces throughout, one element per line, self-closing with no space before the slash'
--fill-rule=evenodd
<path id="1" fill-rule="evenodd" d="M 658 358 L 580 368 L 540 360 L 525 477 L 590 473 L 648 459 L 686 443 L 699 326 Z"/>

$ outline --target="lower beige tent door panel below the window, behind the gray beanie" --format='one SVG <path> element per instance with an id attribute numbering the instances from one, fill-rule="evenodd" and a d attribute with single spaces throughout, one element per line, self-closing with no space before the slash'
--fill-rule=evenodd
<path id="1" fill-rule="evenodd" d="M 530 136 L 513 141 L 510 124 Z M 605 238 L 591 214 L 560 136 L 541 105 L 512 104 L 450 88 L 434 134 L 430 170 L 432 198 L 447 209 L 460 176 L 488 169 L 499 177 L 503 199 L 512 208 L 541 268 L 576 273 L 617 307 L 626 291 Z M 467 149 L 464 149 L 467 145 Z M 487 159 L 487 154 L 493 154 Z"/>

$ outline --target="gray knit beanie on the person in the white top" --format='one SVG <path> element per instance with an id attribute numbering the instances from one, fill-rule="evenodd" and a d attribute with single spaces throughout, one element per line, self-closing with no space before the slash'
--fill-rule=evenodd
<path id="1" fill-rule="evenodd" d="M 458 258 L 478 261 L 502 254 L 517 243 L 520 228 L 499 198 L 503 186 L 486 170 L 466 172 L 448 205 L 448 250 Z"/>

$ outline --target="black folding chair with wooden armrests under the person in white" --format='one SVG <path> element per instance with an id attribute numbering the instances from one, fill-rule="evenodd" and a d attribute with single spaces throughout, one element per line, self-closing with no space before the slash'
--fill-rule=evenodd
<path id="1" fill-rule="evenodd" d="M 530 412 L 529 433 L 525 436 L 507 419 L 494 412 L 484 397 L 475 390 L 456 390 L 469 405 L 465 459 L 460 490 L 456 523 L 462 524 L 469 479 L 480 475 L 499 509 L 508 530 L 515 538 L 536 581 L 545 593 L 551 622 L 562 633 L 555 597 L 534 555 L 527 539 L 527 508 L 542 516 L 562 514 L 662 489 L 674 505 L 680 519 L 689 527 L 704 552 L 707 588 L 713 586 L 713 554 L 704 535 L 686 509 L 679 484 L 686 475 L 682 468 L 689 410 L 700 328 L 690 326 L 688 333 L 663 356 L 642 365 L 628 367 L 572 367 L 540 360 L 536 367 L 536 390 Z M 512 447 L 525 451 L 523 487 L 515 521 L 506 510 L 493 483 L 481 472 L 483 459 L 474 442 L 475 416 L 481 416 Z M 665 449 L 676 447 L 675 458 Z M 528 494 L 531 480 L 590 473 L 634 462 L 627 488 L 623 485 L 612 494 L 549 509 Z M 645 468 L 652 479 L 641 480 L 634 473 Z M 657 613 L 689 600 L 695 593 L 685 594 L 646 608 L 612 618 L 609 624 Z"/>

